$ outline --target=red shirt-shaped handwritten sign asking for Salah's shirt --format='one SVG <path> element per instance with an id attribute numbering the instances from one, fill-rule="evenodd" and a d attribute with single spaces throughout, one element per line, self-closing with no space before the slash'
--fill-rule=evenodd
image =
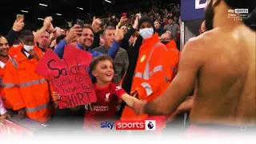
<path id="1" fill-rule="evenodd" d="M 47 50 L 39 61 L 36 73 L 50 80 L 61 99 L 60 109 L 96 102 L 94 86 L 87 72 L 92 54 L 74 46 L 66 46 L 61 60 L 53 50 Z"/>

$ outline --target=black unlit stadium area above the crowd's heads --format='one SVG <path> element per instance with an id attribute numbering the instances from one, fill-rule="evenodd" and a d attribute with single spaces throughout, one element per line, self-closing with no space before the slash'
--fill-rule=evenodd
<path id="1" fill-rule="evenodd" d="M 12 27 L 17 14 L 25 15 L 25 29 L 36 30 L 42 26 L 42 20 L 52 16 L 54 26 L 66 25 L 65 20 L 73 19 L 76 22 L 77 18 L 82 20 L 91 20 L 93 16 L 102 16 L 107 18 L 108 13 L 122 14 L 129 12 L 138 6 L 138 3 L 150 2 L 149 0 L 110 0 L 111 3 L 105 0 L 4 0 L 1 1 L 0 7 L 0 34 L 7 34 Z M 151 0 L 153 2 L 175 2 L 178 0 Z M 180 0 L 179 0 L 180 1 Z M 39 6 L 39 3 L 46 6 Z M 77 7 L 83 8 L 79 10 Z M 150 9 L 150 8 L 149 8 Z M 26 10 L 29 13 L 22 13 L 21 10 Z M 62 16 L 56 15 L 62 14 Z M 74 24 L 74 23 L 73 23 Z"/>

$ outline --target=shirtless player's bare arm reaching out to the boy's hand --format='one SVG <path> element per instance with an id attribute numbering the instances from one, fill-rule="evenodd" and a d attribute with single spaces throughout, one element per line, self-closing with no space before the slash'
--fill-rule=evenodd
<path id="1" fill-rule="evenodd" d="M 194 38 L 193 38 L 194 39 Z M 194 89 L 198 70 L 202 66 L 202 54 L 197 40 L 187 42 L 182 51 L 178 74 L 162 96 L 146 103 L 144 111 L 150 115 L 170 115 L 185 101 Z"/>

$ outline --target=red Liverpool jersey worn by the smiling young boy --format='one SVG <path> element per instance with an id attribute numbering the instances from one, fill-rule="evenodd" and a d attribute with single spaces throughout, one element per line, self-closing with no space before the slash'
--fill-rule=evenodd
<path id="1" fill-rule="evenodd" d="M 99 87 L 96 83 L 94 84 L 94 90 L 97 102 L 87 106 L 84 130 L 99 129 L 101 122 L 114 120 L 118 100 L 122 97 L 122 94 L 126 94 L 125 90 L 112 82 L 103 87 Z"/>

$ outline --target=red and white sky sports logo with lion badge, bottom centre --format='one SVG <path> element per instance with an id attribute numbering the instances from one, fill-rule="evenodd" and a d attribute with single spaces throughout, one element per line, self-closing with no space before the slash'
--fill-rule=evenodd
<path id="1" fill-rule="evenodd" d="M 154 120 L 146 121 L 116 121 L 102 122 L 102 129 L 113 130 L 156 130 L 156 122 Z"/>

